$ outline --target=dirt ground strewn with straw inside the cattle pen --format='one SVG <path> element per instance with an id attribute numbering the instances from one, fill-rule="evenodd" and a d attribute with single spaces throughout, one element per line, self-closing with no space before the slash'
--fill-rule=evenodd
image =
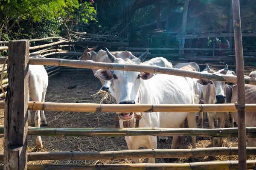
<path id="1" fill-rule="evenodd" d="M 46 102 L 79 102 L 79 103 L 99 103 L 101 96 L 91 95 L 101 87 L 99 79 L 88 74 L 60 74 L 49 78 Z M 45 112 L 47 127 L 99 127 L 113 128 L 115 113 L 77 113 L 77 112 Z M 32 112 L 32 119 L 34 112 Z M 33 122 L 32 122 L 33 123 Z M 3 125 L 3 110 L 0 110 L 0 125 Z M 33 125 L 33 124 L 32 124 Z M 198 127 L 200 123 L 198 122 Z M 41 126 L 42 127 L 42 126 Z M 204 128 L 209 128 L 206 122 Z M 0 136 L 0 152 L 3 152 L 3 136 Z M 28 137 L 29 152 L 43 151 L 112 151 L 128 150 L 124 137 L 49 137 L 42 136 L 43 150 L 37 150 L 35 145 L 36 136 Z M 172 144 L 172 137 L 166 142 L 158 142 L 157 149 L 169 149 Z M 197 138 L 197 148 L 210 147 L 210 138 L 199 140 Z M 217 146 L 217 140 L 215 140 Z M 225 147 L 237 147 L 237 139 L 224 138 Z M 191 137 L 183 139 L 183 148 L 192 148 Z M 220 161 L 237 160 L 237 156 L 216 156 L 200 158 L 181 159 L 156 159 L 156 163 L 185 163 L 198 161 Z M 251 157 L 255 159 L 255 156 Z M 147 162 L 147 159 L 140 159 L 140 163 Z M 57 160 L 57 161 L 30 161 L 29 164 L 114 164 L 131 163 L 131 159 L 120 160 Z"/>

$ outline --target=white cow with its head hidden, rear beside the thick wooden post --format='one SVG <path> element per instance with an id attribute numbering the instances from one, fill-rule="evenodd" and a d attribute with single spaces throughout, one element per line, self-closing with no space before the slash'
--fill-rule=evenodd
<path id="1" fill-rule="evenodd" d="M 32 56 L 34 58 L 41 58 L 40 55 Z M 44 68 L 44 65 L 29 65 L 29 96 L 33 102 L 44 102 L 45 94 L 48 86 L 48 74 Z M 40 127 L 42 122 L 43 125 L 47 125 L 47 120 L 44 115 L 44 111 L 35 111 L 35 127 Z M 28 125 L 31 124 L 31 115 L 28 111 Z M 36 146 L 43 148 L 41 136 L 36 138 Z"/>

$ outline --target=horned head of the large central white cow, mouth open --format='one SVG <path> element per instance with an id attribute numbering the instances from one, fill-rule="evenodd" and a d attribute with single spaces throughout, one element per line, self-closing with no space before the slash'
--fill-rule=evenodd
<path id="1" fill-rule="evenodd" d="M 106 49 L 108 58 L 113 63 L 117 64 L 135 64 L 140 65 L 147 57 L 149 49 L 140 57 L 134 59 L 116 58 Z M 113 83 L 114 96 L 118 104 L 135 104 L 138 101 L 140 81 L 147 80 L 154 76 L 151 73 L 144 73 L 138 71 L 118 71 L 118 70 L 98 70 L 94 74 L 96 77 L 104 81 L 111 81 Z M 134 116 L 133 113 L 121 113 L 119 118 L 122 121 L 128 121 Z"/>

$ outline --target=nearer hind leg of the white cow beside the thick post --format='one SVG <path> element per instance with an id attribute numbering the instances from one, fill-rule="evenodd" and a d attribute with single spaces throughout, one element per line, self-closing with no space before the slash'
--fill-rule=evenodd
<path id="1" fill-rule="evenodd" d="M 41 94 L 33 93 L 31 98 L 33 101 L 39 102 L 42 99 L 42 93 Z M 35 127 L 40 127 L 40 124 L 41 124 L 40 111 L 35 111 L 34 121 L 35 121 Z M 35 144 L 38 148 L 41 148 L 41 149 L 43 148 L 41 136 L 36 136 Z"/>

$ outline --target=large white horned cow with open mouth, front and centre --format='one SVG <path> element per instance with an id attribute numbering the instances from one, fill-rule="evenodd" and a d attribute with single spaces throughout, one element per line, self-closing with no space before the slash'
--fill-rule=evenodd
<path id="1" fill-rule="evenodd" d="M 141 55 L 135 59 L 120 59 L 114 57 L 107 50 L 108 57 L 113 63 L 140 65 L 148 54 Z M 138 71 L 117 71 L 98 70 L 96 77 L 102 80 L 113 80 L 116 102 L 118 104 L 192 104 L 194 103 L 194 86 L 191 78 L 178 77 L 165 74 L 140 73 Z M 120 126 L 122 121 L 129 121 L 134 117 L 134 113 L 120 113 Z M 196 128 L 195 114 L 189 116 L 188 112 L 182 113 L 143 113 L 139 127 L 180 127 L 181 123 L 188 116 L 188 124 L 191 128 Z M 147 147 L 157 148 L 156 136 L 126 136 L 125 140 L 129 150 Z M 176 148 L 177 136 L 173 137 L 172 148 Z M 195 148 L 195 136 L 193 138 Z M 139 159 L 132 159 L 135 163 Z M 154 158 L 148 159 L 149 163 L 154 163 Z"/>

